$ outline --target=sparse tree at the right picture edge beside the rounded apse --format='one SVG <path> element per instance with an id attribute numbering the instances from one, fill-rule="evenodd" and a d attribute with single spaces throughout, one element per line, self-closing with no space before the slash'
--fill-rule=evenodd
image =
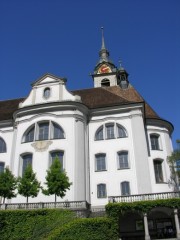
<path id="1" fill-rule="evenodd" d="M 177 140 L 177 145 L 179 145 L 180 141 Z M 173 185 L 174 191 L 179 191 L 179 181 L 180 181 L 180 148 L 178 146 L 175 149 L 171 156 L 168 156 L 168 163 L 170 166 L 171 176 L 170 176 L 170 184 Z"/>

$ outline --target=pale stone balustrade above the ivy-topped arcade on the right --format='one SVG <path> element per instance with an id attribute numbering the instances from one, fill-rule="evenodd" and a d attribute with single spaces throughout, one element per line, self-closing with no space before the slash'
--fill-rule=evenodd
<path id="1" fill-rule="evenodd" d="M 108 201 L 111 203 L 115 202 L 138 202 L 146 200 L 157 200 L 157 199 L 169 199 L 179 198 L 180 192 L 163 192 L 163 193 L 148 193 L 138 195 L 127 195 L 127 196 L 109 196 Z"/>

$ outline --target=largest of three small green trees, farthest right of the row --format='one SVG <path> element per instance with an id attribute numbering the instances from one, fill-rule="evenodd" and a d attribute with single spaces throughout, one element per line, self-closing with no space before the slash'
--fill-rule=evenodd
<path id="1" fill-rule="evenodd" d="M 72 183 L 66 172 L 62 169 L 58 156 L 54 159 L 51 167 L 47 170 L 46 182 L 47 189 L 43 189 L 45 195 L 55 194 L 55 203 L 57 196 L 64 197 L 66 191 L 70 189 Z"/>

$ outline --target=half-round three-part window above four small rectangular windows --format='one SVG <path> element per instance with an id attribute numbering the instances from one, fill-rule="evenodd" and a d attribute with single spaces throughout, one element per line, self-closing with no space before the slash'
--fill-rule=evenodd
<path id="1" fill-rule="evenodd" d="M 125 138 L 127 132 L 121 125 L 110 122 L 100 126 L 95 133 L 95 140 Z"/>

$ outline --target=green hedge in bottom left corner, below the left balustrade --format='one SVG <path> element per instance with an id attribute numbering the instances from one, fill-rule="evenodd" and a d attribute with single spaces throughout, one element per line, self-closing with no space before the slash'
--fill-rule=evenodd
<path id="1" fill-rule="evenodd" d="M 62 209 L 0 211 L 0 239 L 44 240 L 74 218 L 74 212 Z"/>

